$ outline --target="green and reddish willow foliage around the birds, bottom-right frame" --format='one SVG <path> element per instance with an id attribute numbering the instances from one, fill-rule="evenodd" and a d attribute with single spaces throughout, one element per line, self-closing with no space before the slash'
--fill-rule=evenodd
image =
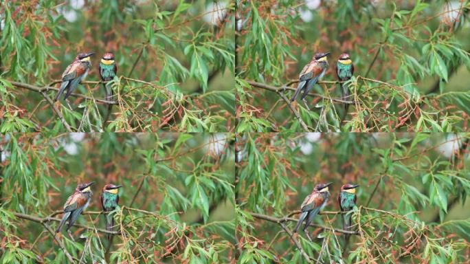
<path id="1" fill-rule="evenodd" d="M 468 134 L 247 133 L 238 141 L 240 263 L 461 263 L 469 258 Z M 320 182 L 333 182 L 324 214 L 313 220 L 325 229 L 309 228 L 313 243 L 303 232 L 293 236 L 307 261 L 283 231 L 293 230 L 296 219 L 282 219 L 299 210 Z M 342 229 L 337 195 L 346 183 L 360 187 L 357 208 L 349 212 L 359 234 L 345 250 L 344 235 L 328 228 Z"/>

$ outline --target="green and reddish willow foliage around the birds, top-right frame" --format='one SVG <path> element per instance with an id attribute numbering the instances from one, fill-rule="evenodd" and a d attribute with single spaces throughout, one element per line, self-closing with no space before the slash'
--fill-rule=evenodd
<path id="1" fill-rule="evenodd" d="M 306 2 L 238 1 L 239 132 L 467 131 L 470 92 L 458 83 L 469 78 L 469 1 Z M 314 91 L 324 98 L 309 99 L 311 111 L 294 106 L 305 129 L 280 96 L 247 84 L 290 99 L 284 86 L 297 87 L 292 80 L 320 51 L 331 52 L 324 80 L 337 80 L 339 54 L 353 60 L 349 113 L 332 100 L 339 83 L 320 82 Z"/>

